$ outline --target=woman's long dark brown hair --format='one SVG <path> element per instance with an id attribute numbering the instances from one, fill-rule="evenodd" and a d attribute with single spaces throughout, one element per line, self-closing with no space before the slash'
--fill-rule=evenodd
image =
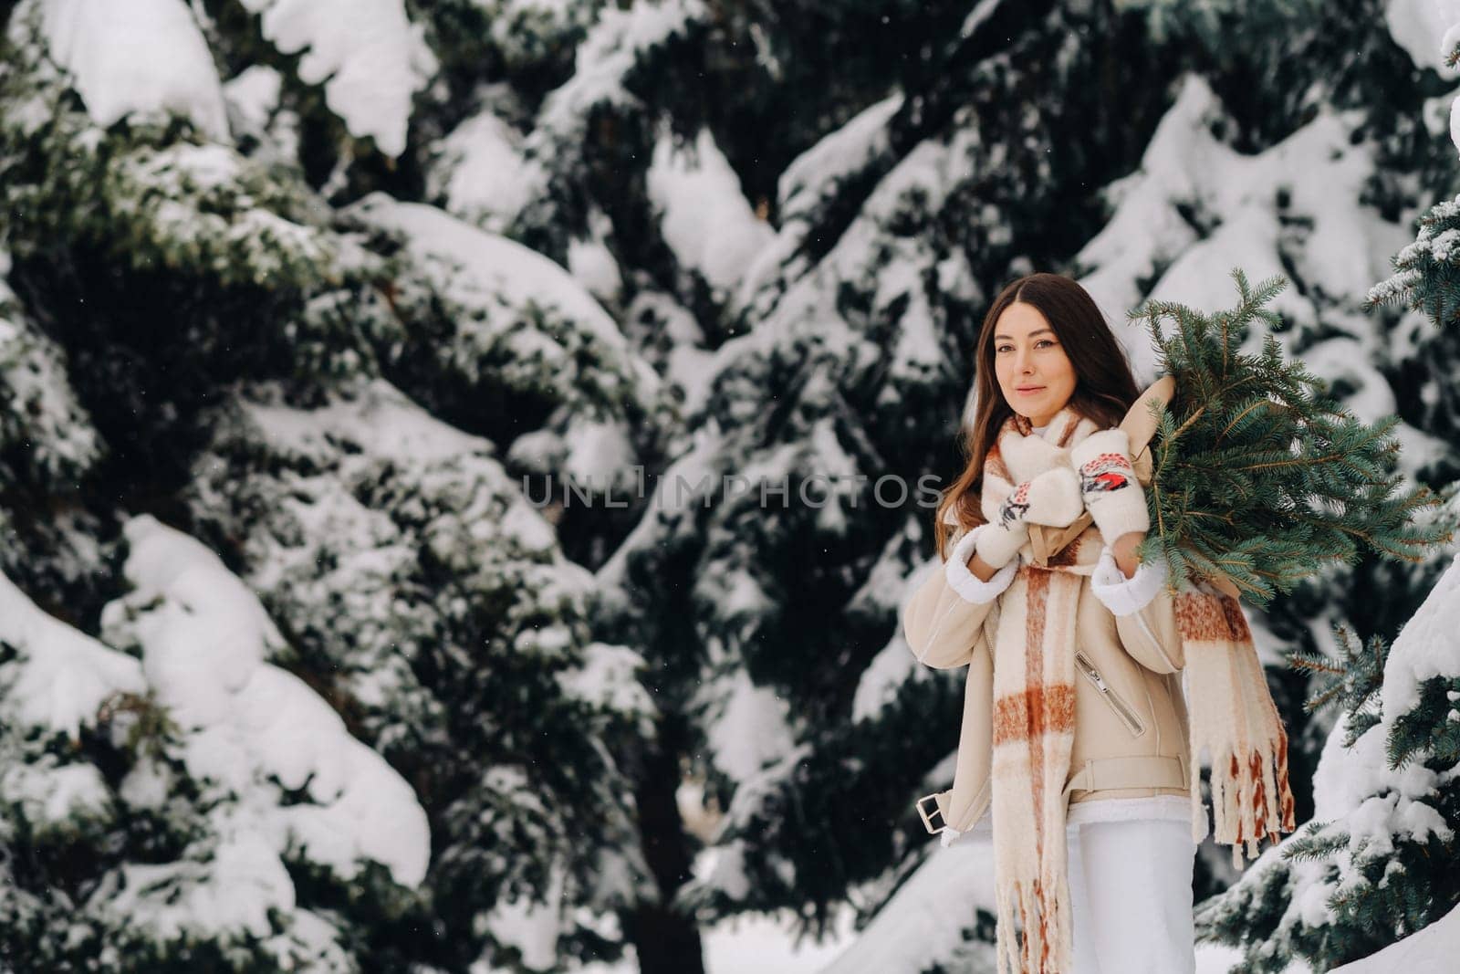
<path id="1" fill-rule="evenodd" d="M 1115 426 L 1140 394 L 1124 349 L 1120 348 L 1110 323 L 1085 288 L 1070 277 L 1048 273 L 1028 275 L 1010 282 L 988 307 L 984 327 L 978 331 L 974 359 L 977 407 L 972 425 L 964 426 L 961 435 L 965 466 L 939 501 L 933 521 L 933 537 L 937 540 L 940 558 L 948 558 L 945 548 L 950 534 L 950 526 L 943 523 L 945 511 L 952 508 L 965 529 L 984 523 L 978 510 L 984 454 L 993 445 L 1004 419 L 1013 415 L 994 375 L 994 324 L 1004 308 L 1015 301 L 1038 308 L 1060 337 L 1060 345 L 1075 367 L 1075 391 L 1070 394 L 1069 406 L 1077 413 L 1094 419 L 1102 429 Z"/>

